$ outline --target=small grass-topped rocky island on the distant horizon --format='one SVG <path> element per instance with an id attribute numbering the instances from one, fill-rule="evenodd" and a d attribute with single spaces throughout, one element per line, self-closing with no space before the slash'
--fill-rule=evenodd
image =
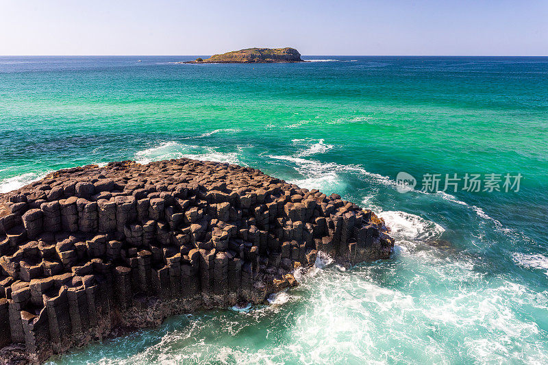
<path id="1" fill-rule="evenodd" d="M 274 63 L 274 62 L 304 62 L 297 49 L 286 48 L 248 48 L 220 55 L 212 55 L 206 60 L 197 58 L 194 61 L 177 62 L 190 64 L 232 64 L 232 63 Z"/>

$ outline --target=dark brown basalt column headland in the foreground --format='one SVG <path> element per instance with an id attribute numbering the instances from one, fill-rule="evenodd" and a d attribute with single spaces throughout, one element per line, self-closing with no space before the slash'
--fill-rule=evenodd
<path id="1" fill-rule="evenodd" d="M 0 362 L 40 362 L 113 329 L 295 285 L 318 251 L 388 258 L 369 210 L 264 175 L 196 160 L 112 162 L 0 195 Z"/>

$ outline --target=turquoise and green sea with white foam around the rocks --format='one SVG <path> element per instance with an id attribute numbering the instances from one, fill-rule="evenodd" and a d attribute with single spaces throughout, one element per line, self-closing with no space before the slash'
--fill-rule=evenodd
<path id="1" fill-rule="evenodd" d="M 0 192 L 112 160 L 234 162 L 371 207 L 393 257 L 324 257 L 271 305 L 177 316 L 53 363 L 548 362 L 548 58 L 169 64 L 193 58 L 0 58 Z M 523 179 L 401 193 L 400 171 Z"/>

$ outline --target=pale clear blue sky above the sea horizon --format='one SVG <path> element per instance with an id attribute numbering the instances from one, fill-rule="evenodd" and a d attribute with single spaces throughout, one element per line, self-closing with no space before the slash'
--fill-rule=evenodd
<path id="1" fill-rule="evenodd" d="M 548 1 L 0 1 L 1 55 L 548 55 Z"/>

